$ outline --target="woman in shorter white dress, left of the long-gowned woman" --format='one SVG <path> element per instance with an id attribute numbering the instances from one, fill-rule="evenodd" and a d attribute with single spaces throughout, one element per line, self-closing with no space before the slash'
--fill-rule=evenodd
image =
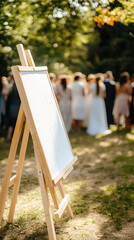
<path id="1" fill-rule="evenodd" d="M 74 82 L 70 84 L 72 96 L 72 119 L 74 121 L 74 129 L 79 131 L 81 129 L 82 120 L 85 119 L 85 99 L 84 89 L 85 84 L 81 81 L 81 76 L 76 75 Z"/>

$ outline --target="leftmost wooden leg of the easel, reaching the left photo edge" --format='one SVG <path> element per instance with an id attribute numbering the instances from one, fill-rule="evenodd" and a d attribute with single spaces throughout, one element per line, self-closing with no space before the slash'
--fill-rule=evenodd
<path id="1" fill-rule="evenodd" d="M 17 151 L 17 146 L 18 146 L 18 142 L 19 142 L 19 138 L 20 138 L 20 134 L 21 134 L 21 130 L 22 130 L 23 121 L 24 121 L 24 112 L 23 112 L 23 108 L 21 105 L 19 114 L 18 114 L 18 118 L 17 118 L 17 122 L 16 122 L 14 135 L 12 138 L 7 167 L 6 167 L 5 176 L 4 176 L 4 180 L 3 180 L 3 184 L 2 184 L 2 190 L 1 190 L 1 194 L 0 194 L 0 222 L 1 222 L 2 216 L 3 216 L 4 205 L 5 205 L 6 196 L 8 193 L 10 177 L 11 177 L 12 168 L 13 168 L 13 164 L 14 164 L 14 160 L 15 160 L 16 151 Z"/>

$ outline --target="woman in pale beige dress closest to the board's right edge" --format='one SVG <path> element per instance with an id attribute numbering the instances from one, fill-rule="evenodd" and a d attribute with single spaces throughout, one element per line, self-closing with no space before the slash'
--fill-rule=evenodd
<path id="1" fill-rule="evenodd" d="M 67 132 L 71 130 L 71 90 L 67 86 L 67 79 L 62 78 L 61 83 L 56 87 L 56 97 Z"/>

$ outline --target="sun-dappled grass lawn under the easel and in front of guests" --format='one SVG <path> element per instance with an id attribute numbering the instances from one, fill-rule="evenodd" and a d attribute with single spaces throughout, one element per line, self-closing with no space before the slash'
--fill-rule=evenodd
<path id="1" fill-rule="evenodd" d="M 61 219 L 54 218 L 57 239 L 134 239 L 134 132 L 113 130 L 107 136 L 94 137 L 83 130 L 70 133 L 69 138 L 78 161 L 64 181 L 64 187 L 71 196 L 74 219 L 68 219 L 66 213 Z M 9 147 L 5 137 L 0 137 L 0 186 Z M 17 158 L 18 153 L 14 173 Z M 0 227 L 0 240 L 48 239 L 31 138 L 14 222 L 8 224 L 11 193 L 12 188 Z M 51 205 L 54 212 L 52 201 Z"/>

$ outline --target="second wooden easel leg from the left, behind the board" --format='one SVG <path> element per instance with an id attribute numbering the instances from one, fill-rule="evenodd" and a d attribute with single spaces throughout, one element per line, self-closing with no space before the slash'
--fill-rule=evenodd
<path id="1" fill-rule="evenodd" d="M 21 149 L 20 149 L 18 168 L 17 168 L 17 172 L 16 172 L 16 179 L 15 179 L 15 183 L 14 183 L 14 187 L 13 187 L 12 201 L 11 201 L 11 206 L 10 206 L 10 211 L 9 211 L 9 216 L 8 216 L 9 223 L 11 223 L 13 221 L 13 216 L 14 216 L 15 205 L 16 205 L 16 201 L 17 201 L 17 195 L 18 195 L 18 191 L 19 191 L 22 167 L 23 167 L 23 162 L 24 162 L 24 158 L 25 158 L 28 138 L 29 138 L 29 128 L 28 128 L 28 123 L 26 121 L 22 144 L 21 144 Z"/>

